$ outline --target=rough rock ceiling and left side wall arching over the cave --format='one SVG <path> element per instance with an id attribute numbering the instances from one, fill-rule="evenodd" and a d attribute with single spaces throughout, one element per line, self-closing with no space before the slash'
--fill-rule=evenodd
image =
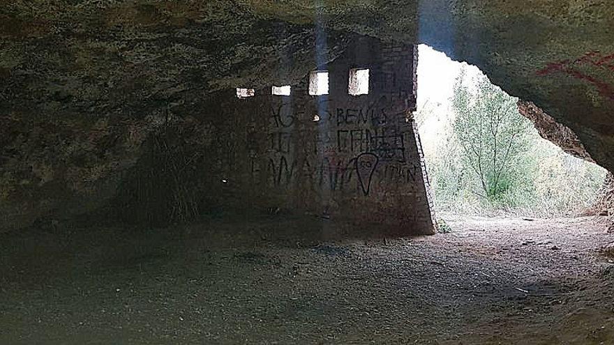
<path id="1" fill-rule="evenodd" d="M 15 0 L 0 6 L 0 228 L 97 208 L 167 114 L 207 128 L 215 92 L 297 82 L 357 35 L 479 66 L 614 170 L 609 1 Z"/>

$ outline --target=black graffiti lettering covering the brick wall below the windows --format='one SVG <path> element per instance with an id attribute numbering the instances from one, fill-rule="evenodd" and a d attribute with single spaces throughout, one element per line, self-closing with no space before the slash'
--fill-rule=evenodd
<path id="1" fill-rule="evenodd" d="M 356 190 L 369 196 L 373 182 L 407 185 L 421 177 L 407 145 L 414 133 L 405 114 L 373 105 L 320 105 L 319 121 L 290 104 L 269 108 L 264 155 L 251 158 L 252 181 L 272 187 Z M 260 116 L 261 118 L 263 116 Z"/>

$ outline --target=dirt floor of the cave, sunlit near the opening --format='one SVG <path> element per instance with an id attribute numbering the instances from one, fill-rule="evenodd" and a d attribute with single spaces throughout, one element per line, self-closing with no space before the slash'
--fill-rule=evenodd
<path id="1" fill-rule="evenodd" d="M 444 218 L 367 241 L 300 217 L 5 233 L 0 344 L 614 344 L 599 218 Z"/>

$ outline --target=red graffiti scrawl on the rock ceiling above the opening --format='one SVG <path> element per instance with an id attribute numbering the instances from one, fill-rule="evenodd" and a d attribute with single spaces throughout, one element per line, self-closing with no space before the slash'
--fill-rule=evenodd
<path id="1" fill-rule="evenodd" d="M 612 89 L 612 86 L 585 72 L 584 70 L 587 67 L 599 68 L 599 72 L 602 72 L 604 69 L 614 72 L 614 54 L 601 56 L 600 52 L 587 52 L 584 56 L 575 61 L 566 60 L 560 61 L 559 63 L 548 63 L 546 68 L 537 71 L 537 75 L 550 75 L 554 72 L 563 72 L 567 75 L 571 75 L 571 77 L 590 82 L 599 89 L 601 95 L 614 100 L 614 89 Z"/>

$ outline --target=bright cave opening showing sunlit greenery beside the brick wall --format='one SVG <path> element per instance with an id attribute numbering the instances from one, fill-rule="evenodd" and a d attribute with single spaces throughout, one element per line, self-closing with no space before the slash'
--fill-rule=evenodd
<path id="1" fill-rule="evenodd" d="M 543 139 L 475 66 L 419 46 L 415 114 L 435 212 L 581 215 L 606 170 Z"/>

